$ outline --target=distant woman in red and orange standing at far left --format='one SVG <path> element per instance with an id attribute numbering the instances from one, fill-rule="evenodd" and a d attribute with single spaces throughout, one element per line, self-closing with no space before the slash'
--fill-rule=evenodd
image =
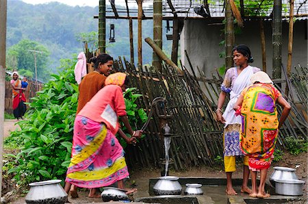
<path id="1" fill-rule="evenodd" d="M 14 117 L 19 120 L 19 118 L 23 118 L 23 115 L 26 111 L 25 105 L 25 94 L 23 90 L 25 88 L 21 87 L 21 79 L 18 79 L 19 75 L 16 71 L 13 72 L 13 79 L 10 81 L 12 86 L 12 97 L 13 97 L 13 114 Z"/>

